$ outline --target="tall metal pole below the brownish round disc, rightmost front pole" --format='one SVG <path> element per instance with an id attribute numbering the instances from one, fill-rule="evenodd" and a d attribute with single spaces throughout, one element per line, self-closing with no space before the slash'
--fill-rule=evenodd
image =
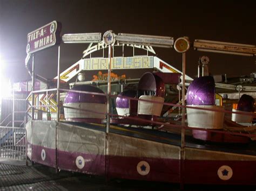
<path id="1" fill-rule="evenodd" d="M 186 54 L 182 53 L 182 119 L 181 125 L 185 126 L 185 75 L 186 75 Z M 180 187 L 184 187 L 184 148 L 185 148 L 185 129 L 181 129 L 181 145 L 180 145 Z"/>

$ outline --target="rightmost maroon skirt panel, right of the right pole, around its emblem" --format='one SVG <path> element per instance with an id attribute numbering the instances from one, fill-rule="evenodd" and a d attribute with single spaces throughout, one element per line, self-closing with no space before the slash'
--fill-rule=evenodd
<path id="1" fill-rule="evenodd" d="M 227 165 L 233 175 L 229 180 L 221 180 L 219 167 Z M 218 185 L 255 185 L 256 161 L 221 161 L 221 160 L 185 160 L 185 183 Z"/>

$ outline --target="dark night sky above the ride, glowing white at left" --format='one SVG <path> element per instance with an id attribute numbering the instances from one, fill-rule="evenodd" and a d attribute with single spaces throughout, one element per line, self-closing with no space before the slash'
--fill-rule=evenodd
<path id="1" fill-rule="evenodd" d="M 149 34 L 256 44 L 255 1 L 96 1 L 96 0 L 0 0 L 0 55 L 5 75 L 12 81 L 26 79 L 26 36 L 57 20 L 62 34 L 102 32 Z M 82 57 L 87 45 L 62 44 L 63 71 Z M 173 48 L 154 48 L 159 58 L 181 70 L 181 54 Z M 199 56 L 210 58 L 210 72 L 228 76 L 256 71 L 255 57 L 196 52 L 186 53 L 186 71 L 197 74 Z M 57 75 L 57 47 L 35 54 L 36 73 Z M 0 63 L 3 67 L 3 63 Z"/>

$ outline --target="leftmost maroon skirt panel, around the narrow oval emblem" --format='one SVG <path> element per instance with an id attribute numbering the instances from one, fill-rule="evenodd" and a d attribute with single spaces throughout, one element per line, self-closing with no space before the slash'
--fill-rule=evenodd
<path id="1" fill-rule="evenodd" d="M 45 160 L 42 159 L 42 150 L 45 151 Z M 47 148 L 38 145 L 32 145 L 32 161 L 39 164 L 55 167 L 55 148 Z"/>

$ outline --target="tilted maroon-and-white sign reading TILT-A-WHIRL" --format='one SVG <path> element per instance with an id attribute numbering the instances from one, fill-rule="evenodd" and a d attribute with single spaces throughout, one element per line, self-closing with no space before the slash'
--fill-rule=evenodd
<path id="1" fill-rule="evenodd" d="M 35 31 L 28 33 L 28 45 L 26 45 L 26 53 L 30 54 L 59 44 L 61 28 L 61 23 L 53 21 Z"/>

